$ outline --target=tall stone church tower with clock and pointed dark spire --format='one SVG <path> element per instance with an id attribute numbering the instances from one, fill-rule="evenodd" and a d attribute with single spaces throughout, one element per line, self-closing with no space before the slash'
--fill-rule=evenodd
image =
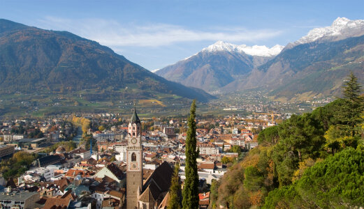
<path id="1" fill-rule="evenodd" d="M 135 107 L 126 139 L 126 208 L 134 209 L 138 208 L 138 196 L 143 192 L 142 131 Z"/>

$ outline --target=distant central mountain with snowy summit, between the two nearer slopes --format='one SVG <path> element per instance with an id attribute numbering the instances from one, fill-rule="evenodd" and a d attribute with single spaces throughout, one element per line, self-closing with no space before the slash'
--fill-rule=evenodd
<path id="1" fill-rule="evenodd" d="M 157 70 L 168 80 L 211 92 L 245 77 L 252 69 L 272 59 L 282 46 L 247 47 L 218 41 L 182 61 Z"/>

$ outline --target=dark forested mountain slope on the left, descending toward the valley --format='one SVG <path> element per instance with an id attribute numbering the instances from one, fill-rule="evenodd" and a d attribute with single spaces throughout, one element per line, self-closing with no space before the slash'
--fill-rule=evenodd
<path id="1" fill-rule="evenodd" d="M 201 101 L 211 98 L 200 89 L 169 82 L 92 40 L 0 20 L 2 93 L 126 87 Z"/>

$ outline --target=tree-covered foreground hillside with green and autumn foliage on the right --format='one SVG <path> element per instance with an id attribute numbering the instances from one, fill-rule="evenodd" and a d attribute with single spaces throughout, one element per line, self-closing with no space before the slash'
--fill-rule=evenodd
<path id="1" fill-rule="evenodd" d="M 212 183 L 210 206 L 363 206 L 364 98 L 356 77 L 346 80 L 344 98 L 261 131 L 259 146 Z"/>

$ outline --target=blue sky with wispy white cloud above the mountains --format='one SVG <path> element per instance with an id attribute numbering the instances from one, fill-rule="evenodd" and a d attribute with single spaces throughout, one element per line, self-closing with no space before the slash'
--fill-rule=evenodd
<path id="1" fill-rule="evenodd" d="M 176 63 L 218 40 L 286 45 L 337 17 L 364 20 L 364 0 L 0 0 L 2 19 L 96 40 L 147 70 Z"/>

